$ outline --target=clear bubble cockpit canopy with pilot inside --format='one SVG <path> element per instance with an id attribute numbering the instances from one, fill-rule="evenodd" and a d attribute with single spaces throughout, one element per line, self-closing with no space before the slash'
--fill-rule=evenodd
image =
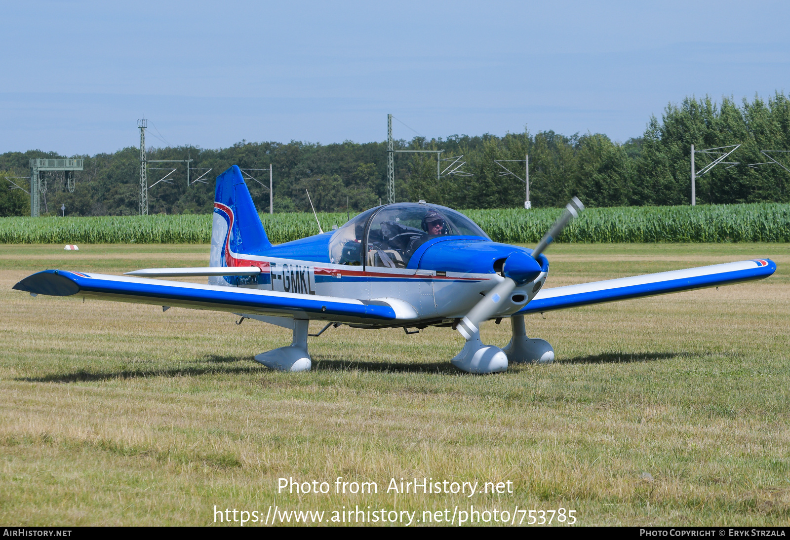
<path id="1" fill-rule="evenodd" d="M 419 246 L 441 236 L 491 239 L 472 219 L 452 208 L 423 203 L 385 204 L 362 212 L 333 234 L 329 261 L 406 268 Z"/>

